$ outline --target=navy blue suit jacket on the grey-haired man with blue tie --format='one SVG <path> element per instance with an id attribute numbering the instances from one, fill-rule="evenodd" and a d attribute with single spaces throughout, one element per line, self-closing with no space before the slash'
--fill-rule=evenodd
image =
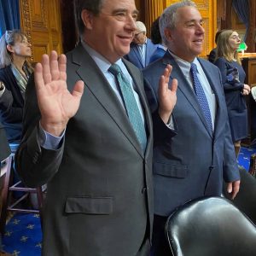
<path id="1" fill-rule="evenodd" d="M 169 52 L 143 70 L 145 91 L 153 114 L 158 108 L 159 76 L 169 63 L 172 79 L 178 81 L 177 104 L 172 117 L 177 135 L 154 141 L 154 213 L 168 216 L 186 201 L 203 195 L 221 195 L 223 178 L 239 180 L 234 146 L 218 68 L 198 59 L 216 96 L 217 113 L 214 134 L 209 131 L 195 93 Z M 154 133 L 165 133 L 160 123 Z"/>

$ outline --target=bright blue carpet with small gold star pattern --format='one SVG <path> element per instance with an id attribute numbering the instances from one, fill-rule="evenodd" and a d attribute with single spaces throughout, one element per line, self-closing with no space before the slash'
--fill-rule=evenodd
<path id="1" fill-rule="evenodd" d="M 241 148 L 238 164 L 247 171 L 256 148 Z M 17 213 L 10 219 L 3 236 L 3 249 L 14 256 L 40 256 L 42 232 L 38 214 Z"/>

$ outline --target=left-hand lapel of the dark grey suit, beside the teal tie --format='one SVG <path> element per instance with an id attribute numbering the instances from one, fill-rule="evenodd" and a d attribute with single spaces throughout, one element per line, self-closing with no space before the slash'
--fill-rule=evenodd
<path id="1" fill-rule="evenodd" d="M 137 152 L 144 157 L 143 150 L 138 143 L 125 109 L 121 106 L 110 84 L 108 84 L 108 80 L 104 77 L 102 71 L 97 67 L 95 61 L 92 60 L 83 46 L 80 45 L 73 52 L 73 62 L 79 65 L 76 73 L 84 81 L 84 85 L 87 87 L 85 90 L 90 90 L 99 104 L 108 112 L 115 124 L 119 126 L 125 137 L 137 149 Z"/>

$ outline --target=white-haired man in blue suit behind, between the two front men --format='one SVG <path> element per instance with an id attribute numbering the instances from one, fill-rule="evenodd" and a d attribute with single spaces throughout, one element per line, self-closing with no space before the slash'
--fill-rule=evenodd
<path id="1" fill-rule="evenodd" d="M 131 49 L 125 59 L 131 61 L 139 69 L 147 67 L 151 56 L 157 49 L 158 44 L 153 44 L 147 38 L 147 29 L 142 21 L 136 21 L 137 30 L 131 43 Z"/>

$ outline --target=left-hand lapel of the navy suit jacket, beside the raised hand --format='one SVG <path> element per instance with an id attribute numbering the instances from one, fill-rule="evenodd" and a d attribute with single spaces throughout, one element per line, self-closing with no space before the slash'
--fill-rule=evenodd
<path id="1" fill-rule="evenodd" d="M 173 59 L 172 55 L 167 51 L 166 55 L 163 58 L 163 63 L 165 65 L 170 64 L 172 65 L 172 79 L 177 79 L 177 90 L 180 90 L 183 93 L 183 96 L 185 96 L 191 105 L 192 108 L 195 109 L 195 112 L 198 114 L 199 118 L 201 119 L 201 122 L 207 129 L 207 132 L 212 137 L 212 131 L 210 131 L 207 121 L 204 117 L 204 114 L 201 110 L 201 106 L 195 96 L 195 92 L 191 89 L 188 81 L 185 79 L 182 70 L 180 67 L 178 67 L 177 62 Z"/>

